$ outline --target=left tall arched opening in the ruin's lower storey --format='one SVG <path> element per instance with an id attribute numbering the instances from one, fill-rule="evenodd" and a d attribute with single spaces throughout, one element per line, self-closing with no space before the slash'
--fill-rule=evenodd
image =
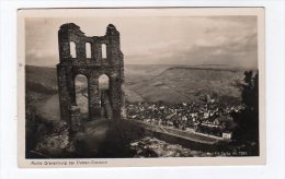
<path id="1" fill-rule="evenodd" d="M 86 75 L 78 74 L 75 79 L 76 102 L 80 108 L 82 117 L 88 118 L 88 79 Z"/>

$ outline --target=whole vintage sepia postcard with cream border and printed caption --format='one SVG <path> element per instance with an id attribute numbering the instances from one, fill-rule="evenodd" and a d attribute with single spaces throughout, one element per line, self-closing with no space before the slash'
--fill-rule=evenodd
<path id="1" fill-rule="evenodd" d="M 19 10 L 19 167 L 265 165 L 264 13 Z"/>

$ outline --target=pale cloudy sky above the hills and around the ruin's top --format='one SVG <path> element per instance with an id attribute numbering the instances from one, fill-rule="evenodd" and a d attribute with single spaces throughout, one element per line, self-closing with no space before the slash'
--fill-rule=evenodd
<path id="1" fill-rule="evenodd" d="M 87 36 L 121 33 L 125 64 L 225 64 L 258 68 L 256 16 L 94 16 L 25 19 L 26 64 L 59 62 L 57 32 L 76 23 Z"/>

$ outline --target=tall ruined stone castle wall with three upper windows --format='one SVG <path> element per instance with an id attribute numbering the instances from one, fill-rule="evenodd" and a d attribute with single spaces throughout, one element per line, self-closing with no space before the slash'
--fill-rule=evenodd
<path id="1" fill-rule="evenodd" d="M 73 45 L 75 55 L 71 56 Z M 119 33 L 113 24 L 104 36 L 86 36 L 73 23 L 64 24 L 58 31 L 59 63 L 57 64 L 58 92 L 61 120 L 77 122 L 80 118 L 76 98 L 75 79 L 81 74 L 88 81 L 88 119 L 102 116 L 102 98 L 107 119 L 121 119 L 124 107 L 124 61 L 119 47 Z M 102 47 L 106 55 L 102 55 Z M 87 48 L 91 55 L 87 55 Z M 100 93 L 99 77 L 105 74 L 110 87 Z M 73 121 L 75 120 L 75 121 Z"/>

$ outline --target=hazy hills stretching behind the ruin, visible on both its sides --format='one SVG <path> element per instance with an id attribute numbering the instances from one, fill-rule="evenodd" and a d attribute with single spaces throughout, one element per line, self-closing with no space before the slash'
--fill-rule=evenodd
<path id="1" fill-rule="evenodd" d="M 58 118 L 56 68 L 26 65 L 25 70 L 27 97 L 43 110 L 42 114 L 47 117 L 54 114 L 53 118 Z M 242 80 L 243 73 L 244 70 L 232 68 L 126 65 L 126 102 L 190 103 L 201 100 L 205 95 L 216 96 L 225 103 L 240 102 L 240 93 L 232 83 Z M 79 104 L 87 103 L 83 92 L 81 90 Z"/>

